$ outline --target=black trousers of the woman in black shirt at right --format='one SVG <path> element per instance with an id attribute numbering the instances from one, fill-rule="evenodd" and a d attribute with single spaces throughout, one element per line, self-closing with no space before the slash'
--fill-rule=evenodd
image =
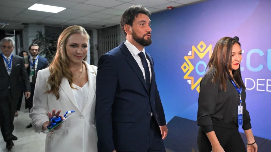
<path id="1" fill-rule="evenodd" d="M 222 123 L 212 119 L 215 135 L 225 152 L 246 152 L 243 139 L 235 124 Z M 198 132 L 198 149 L 199 152 L 212 151 L 211 143 L 207 135 L 199 127 Z"/>

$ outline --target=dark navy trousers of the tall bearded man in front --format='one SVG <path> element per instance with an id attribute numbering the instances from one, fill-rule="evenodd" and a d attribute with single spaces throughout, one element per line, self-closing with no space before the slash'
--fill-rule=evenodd
<path id="1" fill-rule="evenodd" d="M 158 124 L 153 117 L 150 122 L 150 130 L 149 130 L 149 143 L 147 143 L 144 147 L 139 147 L 136 151 L 130 151 L 130 152 L 166 152 L 166 149 L 164 147 L 163 139 L 161 137 L 161 131 L 157 127 Z M 117 152 L 122 152 L 118 151 Z M 124 152 L 124 151 L 123 151 Z M 125 151 L 127 152 L 127 151 Z"/>

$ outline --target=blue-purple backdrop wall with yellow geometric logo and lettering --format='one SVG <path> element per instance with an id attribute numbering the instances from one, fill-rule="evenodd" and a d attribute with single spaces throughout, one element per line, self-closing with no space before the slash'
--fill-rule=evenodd
<path id="1" fill-rule="evenodd" d="M 212 49 L 220 38 L 238 36 L 252 130 L 271 140 L 270 6 L 270 0 L 210 0 L 151 15 L 153 43 L 146 51 L 167 122 L 175 115 L 196 121 L 199 81 Z"/>

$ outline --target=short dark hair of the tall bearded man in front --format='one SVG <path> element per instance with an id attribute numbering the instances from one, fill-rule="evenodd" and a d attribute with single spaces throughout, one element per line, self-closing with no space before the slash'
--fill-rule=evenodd
<path id="1" fill-rule="evenodd" d="M 127 35 L 127 33 L 124 30 L 124 25 L 128 24 L 130 26 L 133 26 L 133 21 L 134 21 L 135 17 L 138 14 L 145 14 L 148 17 L 151 16 L 151 12 L 147 8 L 145 8 L 143 5 L 133 5 L 133 6 L 130 6 L 122 14 L 121 21 L 120 21 L 120 26 L 121 26 L 121 30 L 122 30 L 122 32 L 123 32 L 123 34 L 125 36 Z"/>

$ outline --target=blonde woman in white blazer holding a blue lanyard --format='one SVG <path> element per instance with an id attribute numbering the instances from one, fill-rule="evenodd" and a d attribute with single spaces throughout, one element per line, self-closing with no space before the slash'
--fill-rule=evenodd
<path id="1" fill-rule="evenodd" d="M 37 133 L 50 125 L 50 118 L 74 110 L 75 113 L 47 133 L 46 152 L 97 151 L 94 119 L 97 67 L 85 60 L 89 35 L 80 26 L 70 26 L 59 36 L 57 52 L 50 67 L 38 71 L 32 125 Z M 56 111 L 55 109 L 60 109 Z"/>

